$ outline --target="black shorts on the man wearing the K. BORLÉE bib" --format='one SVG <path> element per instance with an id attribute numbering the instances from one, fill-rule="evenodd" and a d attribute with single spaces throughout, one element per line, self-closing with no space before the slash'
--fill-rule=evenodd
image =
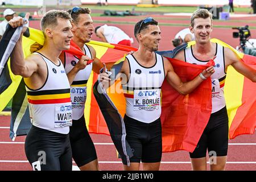
<path id="1" fill-rule="evenodd" d="M 125 117 L 126 140 L 131 146 L 131 163 L 157 163 L 162 158 L 162 125 L 160 118 L 151 123 L 143 123 Z"/>

